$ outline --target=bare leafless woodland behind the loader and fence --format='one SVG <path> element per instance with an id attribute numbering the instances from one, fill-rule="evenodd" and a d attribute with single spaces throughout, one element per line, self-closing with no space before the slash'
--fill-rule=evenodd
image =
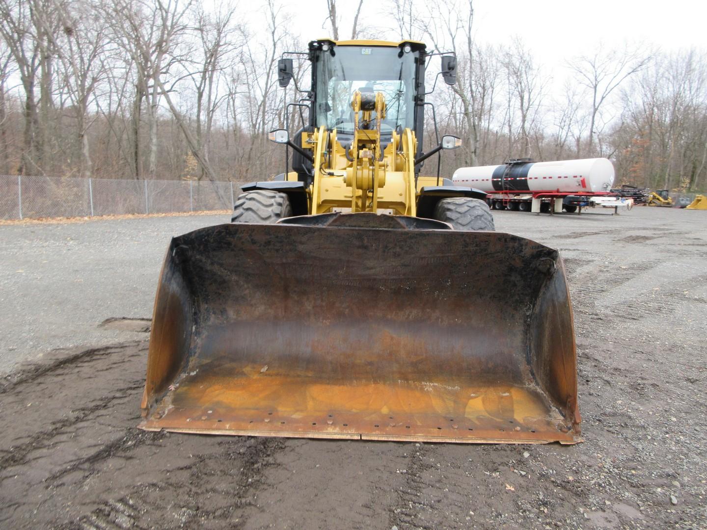
<path id="1" fill-rule="evenodd" d="M 277 83 L 277 60 L 322 33 L 421 40 L 457 54 L 457 83 L 427 96 L 439 134 L 463 147 L 441 172 L 508 158 L 604 156 L 617 184 L 707 189 L 707 59 L 703 49 L 597 47 L 568 59 L 558 86 L 518 35 L 474 38 L 472 0 L 384 0 L 377 28 L 342 21 L 322 0 L 325 31 L 299 35 L 275 0 L 243 2 L 0 0 L 0 173 L 247 182 L 284 170 L 267 132 L 305 94 Z M 309 86 L 308 61 L 295 61 Z M 428 90 L 439 59 L 428 63 Z M 431 107 L 426 148 L 434 145 Z M 291 132 L 301 126 L 297 112 Z M 436 157 L 424 173 L 436 172 Z"/>

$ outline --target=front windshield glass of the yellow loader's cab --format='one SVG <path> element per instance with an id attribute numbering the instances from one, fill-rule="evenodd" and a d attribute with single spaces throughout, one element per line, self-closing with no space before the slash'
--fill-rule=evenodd
<path id="1" fill-rule="evenodd" d="M 353 133 L 354 92 L 382 92 L 387 106 L 381 132 L 414 127 L 417 52 L 397 47 L 332 46 L 320 52 L 317 68 L 317 126 Z M 375 112 L 373 113 L 375 117 Z"/>

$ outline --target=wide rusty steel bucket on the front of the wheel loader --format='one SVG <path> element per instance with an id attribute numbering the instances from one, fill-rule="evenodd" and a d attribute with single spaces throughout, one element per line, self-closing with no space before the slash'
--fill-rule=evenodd
<path id="1" fill-rule="evenodd" d="M 392 228 L 387 216 L 346 226 L 361 215 L 175 237 L 158 285 L 140 427 L 579 442 L 558 253 L 506 233 Z"/>

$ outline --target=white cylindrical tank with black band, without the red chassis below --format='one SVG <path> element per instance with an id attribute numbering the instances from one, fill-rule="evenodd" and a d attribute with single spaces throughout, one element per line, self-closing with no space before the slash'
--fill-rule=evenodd
<path id="1" fill-rule="evenodd" d="M 614 165 L 607 158 L 554 162 L 520 159 L 503 165 L 460 167 L 454 172 L 452 181 L 457 186 L 468 186 L 489 194 L 608 192 L 614 184 Z"/>

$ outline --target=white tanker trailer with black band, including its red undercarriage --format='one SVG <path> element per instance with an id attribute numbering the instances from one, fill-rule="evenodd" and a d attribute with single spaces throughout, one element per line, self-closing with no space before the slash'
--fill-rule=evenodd
<path id="1" fill-rule="evenodd" d="M 496 209 L 530 211 L 538 204 L 581 194 L 584 199 L 609 192 L 614 183 L 614 165 L 607 158 L 582 158 L 534 162 L 528 158 L 508 160 L 501 165 L 460 167 L 452 180 L 489 194 L 489 206 Z M 567 201 L 565 201 L 567 202 Z M 567 211 L 576 206 L 566 204 Z"/>

